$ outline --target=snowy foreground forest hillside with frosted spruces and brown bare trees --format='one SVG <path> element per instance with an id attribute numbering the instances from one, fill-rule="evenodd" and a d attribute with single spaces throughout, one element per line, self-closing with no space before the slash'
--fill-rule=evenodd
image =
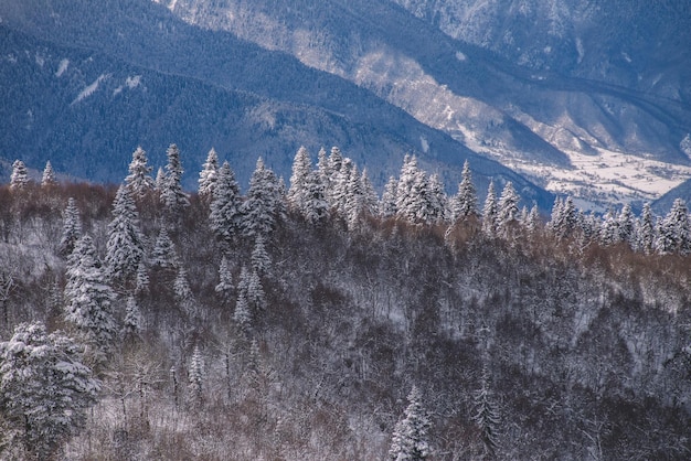
<path id="1" fill-rule="evenodd" d="M 543 216 L 412 156 L 379 194 L 338 148 L 244 193 L 212 149 L 191 192 L 167 158 L 0 186 L 1 459 L 691 457 L 682 200 Z"/>

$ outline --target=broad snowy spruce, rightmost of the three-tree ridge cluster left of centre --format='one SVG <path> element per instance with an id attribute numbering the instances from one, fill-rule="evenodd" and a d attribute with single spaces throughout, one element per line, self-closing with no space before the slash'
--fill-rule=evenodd
<path id="1" fill-rule="evenodd" d="M 242 229 L 246 237 L 267 238 L 285 217 L 285 202 L 276 174 L 259 158 L 242 205 Z"/>

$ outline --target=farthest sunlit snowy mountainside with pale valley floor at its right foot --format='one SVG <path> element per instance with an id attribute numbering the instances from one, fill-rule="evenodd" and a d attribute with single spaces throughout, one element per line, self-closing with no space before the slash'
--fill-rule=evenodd
<path id="1" fill-rule="evenodd" d="M 348 78 L 584 204 L 652 200 L 691 175 L 681 1 L 155 1 Z"/>

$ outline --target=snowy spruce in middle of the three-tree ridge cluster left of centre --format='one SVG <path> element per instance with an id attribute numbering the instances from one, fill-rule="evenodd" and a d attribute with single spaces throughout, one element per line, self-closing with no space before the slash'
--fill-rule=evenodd
<path id="1" fill-rule="evenodd" d="M 232 242 L 241 228 L 242 197 L 235 173 L 228 162 L 223 162 L 219 169 L 210 210 L 211 229 L 219 238 Z"/>

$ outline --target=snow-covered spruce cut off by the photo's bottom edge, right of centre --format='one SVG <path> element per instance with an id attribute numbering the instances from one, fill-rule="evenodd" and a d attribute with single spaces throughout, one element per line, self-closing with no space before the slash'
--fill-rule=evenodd
<path id="1" fill-rule="evenodd" d="M 425 460 L 432 455 L 427 432 L 432 426 L 422 404 L 422 394 L 413 386 L 407 397 L 408 406 L 404 418 L 396 422 L 389 450 L 394 461 Z"/>

